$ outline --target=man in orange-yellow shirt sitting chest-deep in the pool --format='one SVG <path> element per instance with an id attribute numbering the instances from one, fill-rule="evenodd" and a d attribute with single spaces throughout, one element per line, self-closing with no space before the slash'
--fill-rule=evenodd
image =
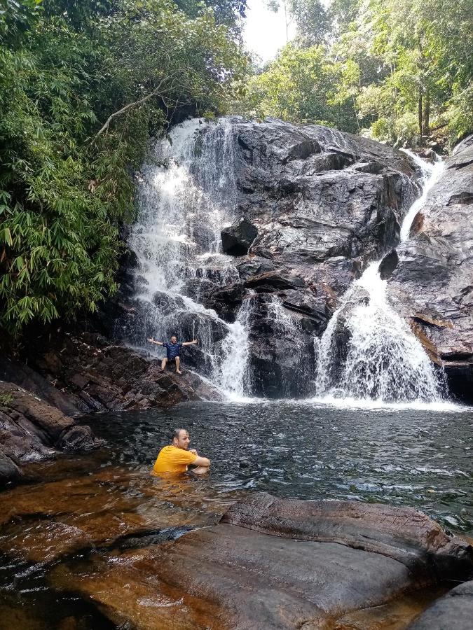
<path id="1" fill-rule="evenodd" d="M 210 459 L 200 457 L 195 449 L 189 450 L 190 442 L 186 429 L 174 429 L 171 444 L 159 451 L 153 466 L 153 474 L 160 475 L 163 472 L 170 472 L 174 475 L 180 475 L 182 472 L 186 472 L 188 465 L 196 466 L 192 470 L 196 475 L 207 472 Z"/>

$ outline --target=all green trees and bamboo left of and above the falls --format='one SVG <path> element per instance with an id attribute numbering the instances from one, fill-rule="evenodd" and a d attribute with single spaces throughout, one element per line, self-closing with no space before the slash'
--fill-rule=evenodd
<path id="1" fill-rule="evenodd" d="M 0 0 L 0 329 L 113 293 L 133 172 L 179 115 L 471 130 L 473 0 L 261 1 L 297 36 L 249 69 L 246 0 Z"/>

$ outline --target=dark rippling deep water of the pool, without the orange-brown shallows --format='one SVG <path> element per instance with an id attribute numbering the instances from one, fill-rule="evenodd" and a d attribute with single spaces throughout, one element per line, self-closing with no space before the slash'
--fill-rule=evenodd
<path id="1" fill-rule="evenodd" d="M 188 403 L 102 416 L 120 463 L 148 468 L 176 426 L 212 460 L 201 483 L 225 492 L 408 505 L 473 533 L 473 414 L 287 403 Z M 113 460 L 111 460 L 113 461 Z"/>

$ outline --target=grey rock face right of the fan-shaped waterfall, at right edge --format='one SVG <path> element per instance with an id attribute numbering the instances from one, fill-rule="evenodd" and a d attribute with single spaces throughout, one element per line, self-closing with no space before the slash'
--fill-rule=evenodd
<path id="1" fill-rule="evenodd" d="M 473 137 L 448 158 L 411 237 L 397 248 L 390 295 L 411 318 L 451 391 L 473 400 Z"/>

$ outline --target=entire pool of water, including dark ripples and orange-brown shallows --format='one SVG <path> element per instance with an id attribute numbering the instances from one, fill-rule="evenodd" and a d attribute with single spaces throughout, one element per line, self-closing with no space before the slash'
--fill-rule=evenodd
<path id="1" fill-rule="evenodd" d="M 406 505 L 450 533 L 473 534 L 471 409 L 196 402 L 89 423 L 106 447 L 34 465 L 29 484 L 0 493 L 0 513 L 19 506 L 0 533 L 0 629 L 132 627 L 94 604 L 88 580 L 100 577 L 104 558 L 113 566 L 120 549 L 162 542 L 155 517 L 165 514 L 176 535 L 181 525 L 216 522 L 247 492 Z M 165 489 L 149 471 L 174 427 L 188 429 L 191 448 L 210 457 L 212 469 Z M 133 519 L 146 531 L 121 535 L 121 523 Z M 69 545 L 69 531 L 77 545 Z"/>

